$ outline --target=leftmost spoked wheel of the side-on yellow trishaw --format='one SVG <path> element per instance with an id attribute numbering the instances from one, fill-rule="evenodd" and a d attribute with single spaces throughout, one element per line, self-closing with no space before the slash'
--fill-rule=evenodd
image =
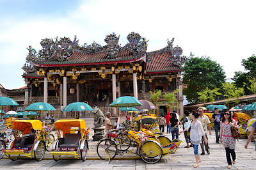
<path id="1" fill-rule="evenodd" d="M 117 148 L 114 141 L 103 139 L 97 144 L 97 154 L 103 160 L 111 160 L 116 156 Z"/>

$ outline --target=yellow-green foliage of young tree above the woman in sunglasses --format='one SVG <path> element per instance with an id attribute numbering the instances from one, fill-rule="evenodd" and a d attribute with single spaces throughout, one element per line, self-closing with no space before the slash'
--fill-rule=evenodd
<path id="1" fill-rule="evenodd" d="M 236 104 L 239 104 L 239 97 L 244 95 L 243 88 L 237 88 L 235 83 L 225 82 L 222 84 L 222 88 L 224 89 L 225 93 L 224 96 L 227 98 L 226 104 L 229 107 L 230 99 L 236 98 Z"/>

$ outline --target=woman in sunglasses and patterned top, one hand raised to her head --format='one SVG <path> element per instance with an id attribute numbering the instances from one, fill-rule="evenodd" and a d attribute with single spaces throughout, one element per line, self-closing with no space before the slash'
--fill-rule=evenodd
<path id="1" fill-rule="evenodd" d="M 223 143 L 223 146 L 226 151 L 228 169 L 232 167 L 232 164 L 236 164 L 236 139 L 232 137 L 231 128 L 236 128 L 237 130 L 239 129 L 239 127 L 237 126 L 237 122 L 232 120 L 231 113 L 225 111 L 224 117 L 222 118 L 220 124 L 220 142 Z M 233 160 L 232 162 L 230 154 Z"/>

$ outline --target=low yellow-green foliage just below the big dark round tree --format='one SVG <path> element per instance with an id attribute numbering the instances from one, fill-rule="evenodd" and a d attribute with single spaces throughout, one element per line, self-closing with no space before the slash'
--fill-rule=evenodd
<path id="1" fill-rule="evenodd" d="M 198 92 L 198 97 L 200 98 L 200 100 L 202 100 L 202 102 L 214 102 L 215 101 L 215 97 L 218 95 L 222 95 L 219 92 L 220 88 L 214 88 L 214 89 L 209 89 L 208 87 L 206 89 L 204 89 L 202 92 Z"/>

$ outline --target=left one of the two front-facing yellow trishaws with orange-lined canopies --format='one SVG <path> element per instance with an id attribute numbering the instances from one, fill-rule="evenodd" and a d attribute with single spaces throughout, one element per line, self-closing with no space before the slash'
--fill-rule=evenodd
<path id="1" fill-rule="evenodd" d="M 15 139 L 10 141 L 3 152 L 11 160 L 17 158 L 35 158 L 40 161 L 45 155 L 45 142 L 42 140 L 42 121 L 15 120 L 12 121 Z M 35 132 L 33 132 L 35 130 Z M 22 136 L 21 136 L 22 135 Z M 26 135 L 26 137 L 24 137 Z"/>

